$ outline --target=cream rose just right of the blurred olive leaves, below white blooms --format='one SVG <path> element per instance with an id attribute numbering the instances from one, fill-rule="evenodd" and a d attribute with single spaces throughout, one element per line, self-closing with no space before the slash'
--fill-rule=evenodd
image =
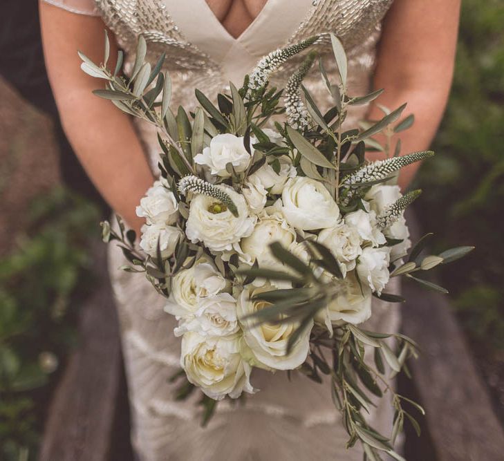
<path id="1" fill-rule="evenodd" d="M 317 321 L 325 321 L 329 330 L 332 324 L 339 325 L 342 322 L 358 325 L 371 317 L 371 290 L 366 286 L 359 285 L 355 274 L 348 273 L 345 279 L 338 280 L 340 291 L 325 310 L 321 310 L 315 316 Z"/>

